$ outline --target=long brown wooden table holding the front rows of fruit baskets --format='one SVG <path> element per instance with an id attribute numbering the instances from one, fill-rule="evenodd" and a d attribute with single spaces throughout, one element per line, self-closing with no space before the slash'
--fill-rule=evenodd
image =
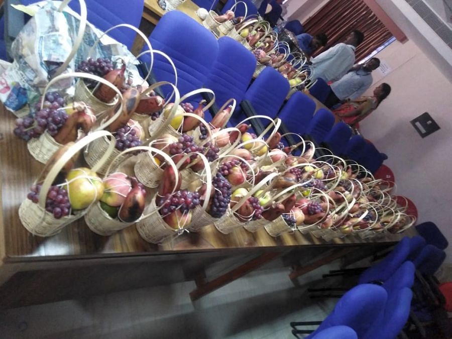
<path id="1" fill-rule="evenodd" d="M 110 237 L 102 237 L 91 232 L 83 218 L 56 236 L 35 237 L 22 226 L 18 208 L 43 165 L 29 154 L 26 142 L 13 135 L 15 117 L 3 105 L 0 106 L 0 121 L 0 133 L 4 136 L 0 141 L 3 207 L 0 286 L 4 284 L 0 287 L 0 300 L 8 305 L 73 298 L 82 291 L 82 296 L 105 293 L 105 289 L 132 288 L 152 281 L 162 283 L 162 279 L 164 283 L 193 280 L 204 267 L 225 258 L 238 258 L 236 262 L 245 262 L 244 265 L 248 266 L 241 270 L 245 274 L 262 265 L 261 261 L 253 262 L 256 257 L 266 262 L 300 248 L 320 246 L 331 249 L 334 245 L 367 246 L 373 242 L 347 237 L 328 244 L 300 232 L 273 238 L 264 229 L 250 233 L 243 228 L 223 235 L 213 226 L 208 226 L 198 234 L 183 234 L 172 242 L 158 246 L 142 240 L 135 225 Z M 379 240 L 379 243 L 388 245 L 399 239 L 399 235 L 391 235 Z M 249 259 L 252 265 L 247 264 Z M 115 278 L 117 276 L 121 278 Z M 237 274 L 225 276 L 228 279 L 222 280 L 219 286 L 238 277 Z M 43 282 L 39 285 L 41 293 L 33 293 L 37 288 L 35 284 L 39 282 Z M 76 290 L 71 289 L 74 283 Z M 17 286 L 23 286 L 22 290 L 19 289 L 23 291 L 22 299 L 16 295 Z M 55 295 L 58 286 L 60 294 Z"/>

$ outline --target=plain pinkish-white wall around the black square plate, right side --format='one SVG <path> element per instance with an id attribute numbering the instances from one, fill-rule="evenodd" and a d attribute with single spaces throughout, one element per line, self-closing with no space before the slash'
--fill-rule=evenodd
<path id="1" fill-rule="evenodd" d="M 397 194 L 414 201 L 419 222 L 433 221 L 452 241 L 452 85 L 414 44 L 394 42 L 376 55 L 392 71 L 374 72 L 372 88 L 392 87 L 389 97 L 360 125 L 363 135 L 388 155 Z M 410 120 L 429 112 L 440 130 L 422 139 Z M 452 245 L 447 249 L 452 263 Z"/>

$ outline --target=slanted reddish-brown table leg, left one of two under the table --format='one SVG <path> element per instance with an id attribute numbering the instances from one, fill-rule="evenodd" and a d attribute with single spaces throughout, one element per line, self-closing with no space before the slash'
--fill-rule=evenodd
<path id="1" fill-rule="evenodd" d="M 201 298 L 202 296 L 210 292 L 213 292 L 214 290 L 223 287 L 224 285 L 227 285 L 233 282 L 234 280 L 243 277 L 244 275 L 257 269 L 258 267 L 266 263 L 269 263 L 270 261 L 278 258 L 282 254 L 283 254 L 282 252 L 264 253 L 259 257 L 250 260 L 249 262 L 246 262 L 245 264 L 211 281 L 207 281 L 205 279 L 205 276 L 199 275 L 199 277 L 195 279 L 197 288 L 190 292 L 190 298 L 192 301 L 195 301 Z"/>

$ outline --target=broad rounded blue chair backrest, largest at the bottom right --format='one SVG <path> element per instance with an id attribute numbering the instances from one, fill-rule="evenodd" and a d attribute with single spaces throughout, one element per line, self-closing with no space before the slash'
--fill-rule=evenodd
<path id="1" fill-rule="evenodd" d="M 386 290 L 381 286 L 358 285 L 344 294 L 314 333 L 331 326 L 345 325 L 353 328 L 361 338 L 384 311 L 387 297 Z"/>

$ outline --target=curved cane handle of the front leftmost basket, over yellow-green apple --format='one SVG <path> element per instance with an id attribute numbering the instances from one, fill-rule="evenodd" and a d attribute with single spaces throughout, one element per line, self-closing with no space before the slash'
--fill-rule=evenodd
<path id="1" fill-rule="evenodd" d="M 87 136 L 80 139 L 79 141 L 77 141 L 65 153 L 63 153 L 63 155 L 50 168 L 47 176 L 44 179 L 44 182 L 41 187 L 41 191 L 39 193 L 39 201 L 38 201 L 39 206 L 41 206 L 43 209 L 46 208 L 47 193 L 49 192 L 50 186 L 52 185 L 52 183 L 55 180 L 58 173 L 60 173 L 63 166 L 72 157 L 74 157 L 79 151 L 81 151 L 85 146 L 87 146 L 90 142 L 92 142 L 96 139 L 99 139 L 99 138 L 104 138 L 104 137 L 110 137 L 110 141 L 109 141 L 108 148 L 107 148 L 105 154 L 102 155 L 102 157 L 99 159 L 99 161 L 92 168 L 92 170 L 94 172 L 96 172 L 108 160 L 108 157 L 115 149 L 116 140 L 115 140 L 115 137 L 111 133 L 109 133 L 107 131 L 97 131 L 97 132 L 90 133 Z"/>

